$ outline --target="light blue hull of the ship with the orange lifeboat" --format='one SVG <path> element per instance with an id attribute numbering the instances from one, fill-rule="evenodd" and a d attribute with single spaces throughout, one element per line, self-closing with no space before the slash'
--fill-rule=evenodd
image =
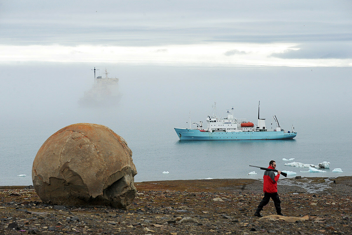
<path id="1" fill-rule="evenodd" d="M 180 140 L 282 140 L 292 139 L 297 135 L 297 132 L 283 131 L 202 132 L 194 129 L 174 129 Z"/>

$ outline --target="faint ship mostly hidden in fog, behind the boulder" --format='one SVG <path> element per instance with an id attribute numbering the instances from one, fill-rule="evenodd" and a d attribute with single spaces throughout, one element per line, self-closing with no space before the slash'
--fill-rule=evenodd
<path id="1" fill-rule="evenodd" d="M 93 70 L 93 69 L 92 69 Z M 78 101 L 82 107 L 106 107 L 115 106 L 121 99 L 119 92 L 119 79 L 109 78 L 105 69 L 105 78 L 98 76 L 95 78 L 94 68 L 94 85 L 91 89 L 84 92 L 84 96 Z"/>

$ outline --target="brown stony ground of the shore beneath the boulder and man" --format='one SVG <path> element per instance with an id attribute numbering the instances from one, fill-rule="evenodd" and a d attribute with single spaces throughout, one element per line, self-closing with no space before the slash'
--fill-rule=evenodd
<path id="1" fill-rule="evenodd" d="M 335 180 L 335 183 L 334 181 Z M 352 234 L 352 177 L 280 179 L 282 213 L 253 179 L 135 183 L 128 210 L 46 205 L 35 190 L 0 186 L 0 234 Z"/>

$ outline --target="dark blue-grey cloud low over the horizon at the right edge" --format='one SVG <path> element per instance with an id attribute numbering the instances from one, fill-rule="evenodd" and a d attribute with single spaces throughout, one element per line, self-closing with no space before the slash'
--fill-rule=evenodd
<path id="1" fill-rule="evenodd" d="M 352 58 L 352 43 L 304 43 L 280 53 L 272 53 L 269 57 L 282 59 L 348 59 Z"/>

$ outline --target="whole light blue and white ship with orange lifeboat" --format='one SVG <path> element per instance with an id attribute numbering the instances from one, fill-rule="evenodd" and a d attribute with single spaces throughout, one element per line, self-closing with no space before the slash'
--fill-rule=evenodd
<path id="1" fill-rule="evenodd" d="M 260 101 L 259 101 L 260 104 Z M 216 103 L 213 105 L 214 113 L 207 117 L 207 128 L 203 129 L 203 122 L 193 122 L 189 118 L 189 129 L 175 128 L 180 140 L 281 140 L 292 139 L 296 137 L 297 132 L 281 129 L 279 122 L 274 115 L 277 126 L 275 130 L 268 130 L 265 126 L 265 119 L 259 118 L 258 105 L 258 125 L 254 126 L 252 122 L 246 122 L 246 119 L 234 118 L 233 107 L 227 110 L 227 118 L 218 118 L 216 115 Z M 197 128 L 192 129 L 191 124 Z"/>

